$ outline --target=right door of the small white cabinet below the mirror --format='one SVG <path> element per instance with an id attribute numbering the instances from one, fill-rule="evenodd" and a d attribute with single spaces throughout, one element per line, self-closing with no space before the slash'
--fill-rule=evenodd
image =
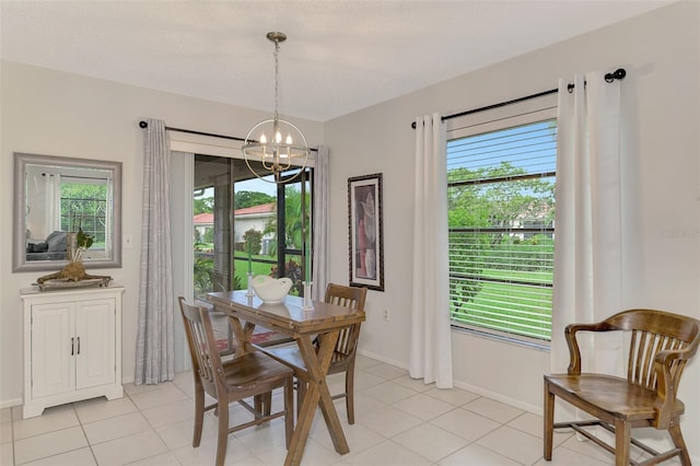
<path id="1" fill-rule="evenodd" d="M 113 384 L 115 368 L 115 301 L 75 303 L 75 385 Z"/>

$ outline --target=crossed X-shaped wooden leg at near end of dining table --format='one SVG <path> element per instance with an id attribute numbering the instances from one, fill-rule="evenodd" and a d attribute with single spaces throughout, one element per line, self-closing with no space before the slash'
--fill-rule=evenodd
<path id="1" fill-rule="evenodd" d="M 311 424 L 316 413 L 316 407 L 319 404 L 336 452 L 342 455 L 350 451 L 348 441 L 342 432 L 342 426 L 340 426 L 340 419 L 338 419 L 338 412 L 332 404 L 330 392 L 328 392 L 328 385 L 326 384 L 326 373 L 330 364 L 332 350 L 338 341 L 338 335 L 340 335 L 339 331 L 325 334 L 318 353 L 316 353 L 308 336 L 302 336 L 296 339 L 299 350 L 302 353 L 304 364 L 308 371 L 308 387 L 302 400 L 296 427 L 294 428 L 290 448 L 284 459 L 285 466 L 301 464 L 306 439 L 311 431 Z"/>

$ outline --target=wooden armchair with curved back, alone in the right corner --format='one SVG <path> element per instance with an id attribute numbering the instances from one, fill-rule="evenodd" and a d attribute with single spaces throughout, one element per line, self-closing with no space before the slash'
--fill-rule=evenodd
<path id="1" fill-rule="evenodd" d="M 630 334 L 627 377 L 582 373 L 576 334 L 612 330 Z M 651 455 L 640 465 L 678 456 L 684 466 L 690 466 L 679 424 L 685 406 L 676 395 L 682 370 L 700 345 L 700 321 L 662 311 L 630 310 L 599 323 L 569 325 L 564 335 L 571 357 L 568 373 L 545 375 L 545 459 L 551 461 L 553 430 L 571 428 L 615 454 L 616 466 L 630 464 L 632 444 Z M 556 396 L 595 419 L 555 423 Z M 595 426 L 615 434 L 615 446 L 586 430 Z M 675 448 L 660 453 L 631 436 L 632 429 L 644 427 L 667 430 Z"/>

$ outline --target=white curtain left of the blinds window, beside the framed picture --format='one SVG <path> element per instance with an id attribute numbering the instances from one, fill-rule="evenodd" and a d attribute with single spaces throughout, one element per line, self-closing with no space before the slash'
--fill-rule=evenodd
<path id="1" fill-rule="evenodd" d="M 453 384 L 445 151 L 441 115 L 417 117 L 409 372 L 439 388 Z"/>

